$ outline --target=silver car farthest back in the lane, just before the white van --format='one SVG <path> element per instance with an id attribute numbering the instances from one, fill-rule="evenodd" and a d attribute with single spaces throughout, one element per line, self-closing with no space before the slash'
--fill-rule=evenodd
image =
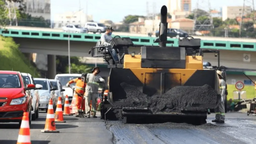
<path id="1" fill-rule="evenodd" d="M 58 98 L 61 97 L 62 109 L 64 109 L 65 96 L 64 96 L 63 92 L 65 91 L 65 89 L 62 88 L 62 85 L 60 84 L 59 80 L 50 79 L 50 82 L 51 82 L 53 87 L 58 88 L 58 90 L 55 90 L 56 99 L 58 100 Z"/>

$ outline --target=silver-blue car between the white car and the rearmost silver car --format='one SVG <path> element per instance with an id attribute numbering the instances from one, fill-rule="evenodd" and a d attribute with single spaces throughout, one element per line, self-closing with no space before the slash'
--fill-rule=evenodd
<path id="1" fill-rule="evenodd" d="M 50 99 L 52 99 L 53 110 L 56 110 L 57 99 L 55 95 L 56 87 L 53 87 L 50 80 L 46 78 L 34 78 L 36 84 L 41 84 L 43 86 L 39 92 L 39 109 L 45 109 L 45 112 L 48 111 L 48 105 Z"/>

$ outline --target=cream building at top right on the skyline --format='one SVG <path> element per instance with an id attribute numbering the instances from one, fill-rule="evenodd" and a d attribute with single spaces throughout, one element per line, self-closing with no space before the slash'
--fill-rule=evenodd
<path id="1" fill-rule="evenodd" d="M 244 15 L 252 12 L 251 6 L 244 7 Z M 243 15 L 243 6 L 223 6 L 222 7 L 222 20 L 235 19 Z"/>

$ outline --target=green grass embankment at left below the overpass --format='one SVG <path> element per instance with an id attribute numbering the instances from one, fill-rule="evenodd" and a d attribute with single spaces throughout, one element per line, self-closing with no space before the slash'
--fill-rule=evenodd
<path id="1" fill-rule="evenodd" d="M 40 77 L 36 68 L 19 50 L 11 37 L 0 36 L 0 70 L 13 70 L 29 73 L 34 77 Z"/>

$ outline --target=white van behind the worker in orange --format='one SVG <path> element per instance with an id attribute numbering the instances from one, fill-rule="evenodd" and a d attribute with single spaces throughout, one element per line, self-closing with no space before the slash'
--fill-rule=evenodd
<path id="1" fill-rule="evenodd" d="M 62 88 L 65 89 L 65 92 L 63 94 L 66 96 L 68 95 L 68 102 L 71 103 L 72 98 L 73 98 L 73 90 L 70 88 L 75 88 L 75 83 L 70 84 L 70 87 L 67 87 L 66 84 L 75 78 L 81 77 L 81 74 L 57 74 L 55 76 L 55 80 L 59 80 L 60 84 L 62 85 Z"/>

